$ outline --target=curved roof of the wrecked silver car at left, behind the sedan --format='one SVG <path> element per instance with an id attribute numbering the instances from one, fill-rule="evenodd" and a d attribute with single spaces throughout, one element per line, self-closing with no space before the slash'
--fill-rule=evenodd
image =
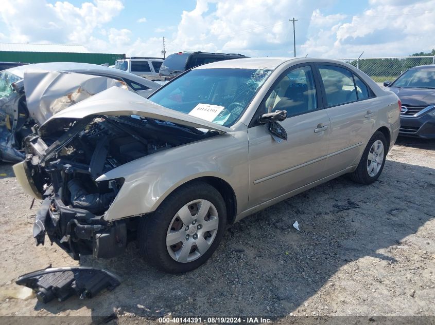
<path id="1" fill-rule="evenodd" d="M 133 73 L 129 73 L 123 70 L 106 67 L 98 64 L 92 64 L 92 63 L 46 62 L 46 63 L 27 64 L 27 65 L 22 65 L 22 66 L 7 69 L 7 71 L 17 75 L 20 78 L 24 77 L 24 71 L 26 70 L 69 71 L 69 72 L 89 73 L 89 74 L 97 73 L 102 75 L 113 75 L 114 77 L 119 77 L 119 78 L 126 78 L 134 82 L 146 85 L 152 89 L 159 88 L 160 86 L 150 80 L 146 80 Z"/>

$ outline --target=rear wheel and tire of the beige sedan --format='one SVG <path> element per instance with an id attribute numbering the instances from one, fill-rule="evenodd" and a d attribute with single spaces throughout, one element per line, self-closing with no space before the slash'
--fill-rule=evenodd
<path id="1" fill-rule="evenodd" d="M 350 174 L 351 179 L 366 185 L 376 181 L 384 169 L 387 149 L 384 133 L 376 131 L 367 143 L 358 167 Z"/>

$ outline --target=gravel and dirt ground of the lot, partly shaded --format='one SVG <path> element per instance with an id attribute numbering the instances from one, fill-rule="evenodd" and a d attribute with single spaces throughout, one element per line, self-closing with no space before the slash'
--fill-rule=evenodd
<path id="1" fill-rule="evenodd" d="M 0 165 L 0 315 L 82 315 L 137 323 L 159 315 L 435 316 L 435 141 L 399 139 L 377 182 L 325 183 L 233 225 L 212 258 L 184 275 L 152 269 L 134 243 L 111 260 L 112 292 L 42 304 L 13 298 L 19 275 L 78 265 L 56 245 L 34 246 L 39 203 Z M 334 205 L 355 202 L 340 211 Z M 300 232 L 292 227 L 297 220 Z M 432 319 L 433 320 L 433 319 Z"/>

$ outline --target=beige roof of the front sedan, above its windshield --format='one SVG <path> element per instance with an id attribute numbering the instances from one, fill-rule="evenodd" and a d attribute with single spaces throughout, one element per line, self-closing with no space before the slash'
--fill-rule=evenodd
<path id="1" fill-rule="evenodd" d="M 242 58 L 212 62 L 195 67 L 197 69 L 270 69 L 296 58 Z"/>

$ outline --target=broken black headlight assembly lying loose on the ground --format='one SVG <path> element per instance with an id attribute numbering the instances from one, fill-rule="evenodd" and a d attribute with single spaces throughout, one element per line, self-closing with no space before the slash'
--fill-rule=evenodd
<path id="1" fill-rule="evenodd" d="M 72 295 L 80 299 L 92 298 L 101 290 L 115 289 L 121 279 L 104 269 L 94 267 L 54 267 L 20 276 L 16 284 L 36 292 L 39 301 L 47 303 L 54 298 L 65 301 Z"/>

